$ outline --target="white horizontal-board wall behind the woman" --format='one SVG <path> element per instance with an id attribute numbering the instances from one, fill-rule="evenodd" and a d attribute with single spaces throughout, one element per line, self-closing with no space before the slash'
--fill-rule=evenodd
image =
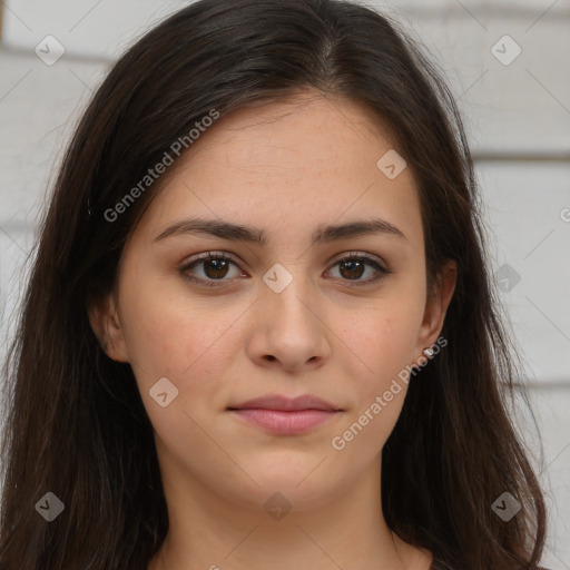
<path id="1" fill-rule="evenodd" d="M 0 4 L 2 338 L 78 112 L 120 52 L 185 3 Z M 501 281 L 503 301 L 528 360 L 543 438 L 540 470 L 551 509 L 543 563 L 570 570 L 570 0 L 367 3 L 396 17 L 431 51 L 464 114 L 493 234 L 492 264 L 498 278 L 511 275 Z M 65 52 L 47 65 L 36 48 L 48 62 Z"/>

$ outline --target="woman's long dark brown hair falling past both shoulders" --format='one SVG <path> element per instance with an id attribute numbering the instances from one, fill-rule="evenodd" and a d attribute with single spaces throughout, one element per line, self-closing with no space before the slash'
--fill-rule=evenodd
<path id="1" fill-rule="evenodd" d="M 87 306 L 112 291 L 161 180 L 116 219 L 108 210 L 212 109 L 224 117 L 306 88 L 357 101 L 391 128 L 417 180 L 429 283 L 445 259 L 458 264 L 449 345 L 412 379 L 383 449 L 384 517 L 454 570 L 537 567 L 543 498 L 508 414 L 518 360 L 445 83 L 396 23 L 365 7 L 202 0 L 119 59 L 65 155 L 6 365 L 0 570 L 140 570 L 160 547 L 168 517 L 153 426 Z M 35 508 L 47 492 L 65 504 L 51 522 Z M 491 508 L 503 492 L 522 505 L 508 522 Z"/>

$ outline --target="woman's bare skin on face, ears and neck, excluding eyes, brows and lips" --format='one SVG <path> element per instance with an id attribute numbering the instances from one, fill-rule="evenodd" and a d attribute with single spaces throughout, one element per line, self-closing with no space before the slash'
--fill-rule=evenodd
<path id="1" fill-rule="evenodd" d="M 371 111 L 315 91 L 239 109 L 202 135 L 134 232 L 117 288 L 90 320 L 109 357 L 131 364 L 155 428 L 170 528 L 149 570 L 430 567 L 381 509 L 380 454 L 405 383 L 343 450 L 331 444 L 435 343 L 455 285 L 450 262 L 428 301 L 412 171 L 389 179 L 376 166 L 393 148 Z M 267 245 L 155 240 L 190 216 L 263 228 Z M 311 245 L 318 226 L 371 217 L 405 238 Z M 233 262 L 214 287 L 180 271 L 208 250 Z M 362 283 L 376 269 L 343 269 L 351 252 L 393 273 L 358 286 L 353 273 Z M 263 281 L 274 264 L 293 279 L 281 293 Z M 204 264 L 186 272 L 214 274 Z M 161 377 L 178 389 L 166 407 L 149 394 Z M 275 393 L 343 411 L 303 435 L 274 435 L 227 411 Z M 281 520 L 264 508 L 276 492 L 292 507 Z"/>

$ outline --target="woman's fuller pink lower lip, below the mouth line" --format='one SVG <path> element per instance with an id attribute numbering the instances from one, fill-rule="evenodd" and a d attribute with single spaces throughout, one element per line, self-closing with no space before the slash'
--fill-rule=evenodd
<path id="1" fill-rule="evenodd" d="M 298 435 L 334 417 L 338 412 L 327 410 L 232 410 L 249 423 L 278 435 Z"/>

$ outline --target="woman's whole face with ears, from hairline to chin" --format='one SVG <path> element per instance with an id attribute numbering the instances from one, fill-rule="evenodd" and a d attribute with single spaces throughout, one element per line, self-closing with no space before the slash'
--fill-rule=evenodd
<path id="1" fill-rule="evenodd" d="M 377 481 L 402 371 L 438 338 L 453 288 L 426 303 L 397 150 L 365 109 L 305 92 L 218 120 L 176 165 L 95 325 L 132 366 L 167 494 L 262 508 L 279 492 L 304 509 Z M 208 252 L 226 259 L 193 265 Z M 275 395 L 330 409 L 235 410 Z"/>

